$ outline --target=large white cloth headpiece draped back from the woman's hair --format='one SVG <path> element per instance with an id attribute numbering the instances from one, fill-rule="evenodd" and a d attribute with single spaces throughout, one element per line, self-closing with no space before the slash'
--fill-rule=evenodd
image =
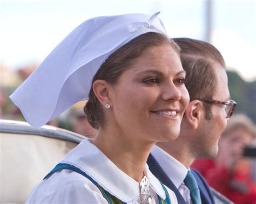
<path id="1" fill-rule="evenodd" d="M 88 98 L 93 76 L 118 48 L 147 32 L 166 35 L 159 13 L 86 20 L 59 43 L 10 99 L 30 125 L 40 127 L 51 121 Z"/>

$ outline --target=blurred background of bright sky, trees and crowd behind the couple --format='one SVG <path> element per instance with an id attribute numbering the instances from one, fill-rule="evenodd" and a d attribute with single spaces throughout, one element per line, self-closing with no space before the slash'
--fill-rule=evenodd
<path id="1" fill-rule="evenodd" d="M 215 161 L 198 161 L 194 167 L 200 170 L 203 166 L 201 173 L 210 183 L 211 175 L 225 175 L 219 177 L 219 186 L 225 181 L 227 189 L 232 186 L 235 190 L 215 187 L 228 198 L 234 198 L 235 191 L 238 199 L 254 196 L 255 201 L 256 157 L 245 159 L 243 152 L 245 146 L 256 146 L 256 1 L 253 0 L 0 0 L 0 118 L 24 121 L 9 95 L 84 20 L 158 11 L 170 37 L 204 40 L 218 48 L 226 61 L 231 98 L 238 103 L 235 114 L 244 114 L 231 118 Z M 75 104 L 49 124 L 94 137 L 97 131 L 87 123 L 84 105 L 85 101 Z M 223 168 L 226 161 L 228 164 Z M 211 171 L 207 174 L 205 170 Z M 231 177 L 223 173 L 226 170 L 236 173 Z M 213 184 L 217 184 L 215 177 Z"/>

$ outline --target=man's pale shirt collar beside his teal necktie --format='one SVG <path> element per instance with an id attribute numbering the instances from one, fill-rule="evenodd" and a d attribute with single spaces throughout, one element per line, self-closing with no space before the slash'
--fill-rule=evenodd
<path id="1" fill-rule="evenodd" d="M 157 160 L 157 163 L 161 168 L 163 168 L 164 172 L 171 179 L 176 188 L 179 188 L 187 175 L 188 169 L 157 145 L 153 146 L 151 154 Z"/>

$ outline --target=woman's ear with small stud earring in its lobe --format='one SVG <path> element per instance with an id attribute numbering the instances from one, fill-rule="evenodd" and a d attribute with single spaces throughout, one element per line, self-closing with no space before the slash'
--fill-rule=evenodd
<path id="1" fill-rule="evenodd" d="M 92 89 L 101 104 L 103 104 L 104 106 L 107 103 L 112 105 L 111 97 L 109 94 L 109 83 L 107 83 L 105 80 L 98 79 L 95 82 L 93 82 Z"/>

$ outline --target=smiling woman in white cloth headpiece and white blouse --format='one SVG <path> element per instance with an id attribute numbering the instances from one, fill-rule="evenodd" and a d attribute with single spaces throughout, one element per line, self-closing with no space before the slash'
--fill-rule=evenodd
<path id="1" fill-rule="evenodd" d="M 179 48 L 157 15 L 87 20 L 11 95 L 33 126 L 89 98 L 84 110 L 98 129 L 27 203 L 177 203 L 146 165 L 156 142 L 178 137 L 189 100 Z"/>

